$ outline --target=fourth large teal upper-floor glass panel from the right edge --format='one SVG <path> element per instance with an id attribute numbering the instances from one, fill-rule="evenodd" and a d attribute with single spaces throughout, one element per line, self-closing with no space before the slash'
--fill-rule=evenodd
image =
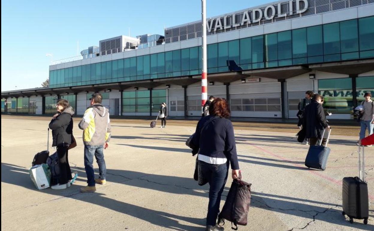
<path id="1" fill-rule="evenodd" d="M 307 28 L 308 56 L 323 55 L 322 25 Z"/>

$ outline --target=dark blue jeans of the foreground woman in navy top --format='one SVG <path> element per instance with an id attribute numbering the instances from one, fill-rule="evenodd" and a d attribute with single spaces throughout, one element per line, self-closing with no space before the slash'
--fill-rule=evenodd
<path id="1" fill-rule="evenodd" d="M 199 161 L 201 173 L 208 179 L 210 186 L 206 226 L 216 225 L 217 216 L 220 212 L 221 195 L 229 173 L 229 163 L 227 161 L 225 164 L 208 164 L 204 161 Z"/>

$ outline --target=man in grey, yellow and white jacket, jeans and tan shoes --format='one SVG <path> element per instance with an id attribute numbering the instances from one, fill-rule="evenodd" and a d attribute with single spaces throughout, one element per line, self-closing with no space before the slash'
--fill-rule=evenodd
<path id="1" fill-rule="evenodd" d="M 109 147 L 111 136 L 109 111 L 101 105 L 102 95 L 95 93 L 90 98 L 89 107 L 78 126 L 83 130 L 83 143 L 85 145 L 85 170 L 87 174 L 86 187 L 80 188 L 81 192 L 95 192 L 95 183 L 105 185 L 107 171 L 104 160 L 104 149 Z M 99 165 L 99 178 L 95 179 L 93 170 L 93 156 Z"/>

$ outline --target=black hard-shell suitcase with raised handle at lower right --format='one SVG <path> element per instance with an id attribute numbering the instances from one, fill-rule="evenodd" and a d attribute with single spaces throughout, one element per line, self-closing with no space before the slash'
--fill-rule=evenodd
<path id="1" fill-rule="evenodd" d="M 353 218 L 364 219 L 364 224 L 368 224 L 369 218 L 369 198 L 368 184 L 365 182 L 365 156 L 364 147 L 362 147 L 362 166 L 361 166 L 361 147 L 358 147 L 358 170 L 359 177 L 343 178 L 343 215 L 349 217 L 349 222 L 353 223 Z"/>

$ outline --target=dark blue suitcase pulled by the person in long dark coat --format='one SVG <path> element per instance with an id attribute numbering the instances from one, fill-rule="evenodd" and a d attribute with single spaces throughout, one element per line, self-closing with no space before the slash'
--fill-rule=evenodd
<path id="1" fill-rule="evenodd" d="M 331 129 L 329 129 L 329 132 L 328 132 L 326 146 L 330 138 L 330 133 L 331 133 Z M 306 155 L 306 158 L 305 158 L 306 167 L 316 168 L 316 169 L 321 169 L 321 170 L 326 169 L 327 159 L 330 154 L 330 148 L 321 146 L 324 134 L 325 134 L 325 130 L 322 134 L 321 142 L 319 143 L 319 145 L 313 145 L 309 147 L 308 154 Z"/>

